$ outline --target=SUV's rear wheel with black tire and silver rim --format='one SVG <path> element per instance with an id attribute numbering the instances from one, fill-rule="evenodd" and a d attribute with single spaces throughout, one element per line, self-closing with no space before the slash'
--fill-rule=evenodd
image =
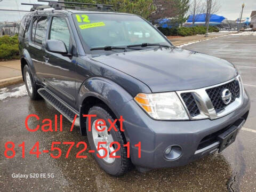
<path id="1" fill-rule="evenodd" d="M 33 100 L 41 99 L 41 96 L 37 93 L 39 87 L 36 85 L 28 65 L 25 65 L 23 68 L 23 77 L 29 97 Z"/>

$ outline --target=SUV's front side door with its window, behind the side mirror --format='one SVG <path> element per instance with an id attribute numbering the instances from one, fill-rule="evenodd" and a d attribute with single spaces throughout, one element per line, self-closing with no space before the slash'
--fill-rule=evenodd
<path id="1" fill-rule="evenodd" d="M 68 18 L 65 15 L 56 15 L 51 18 L 47 39 L 60 40 L 65 43 L 70 57 L 45 50 L 44 61 L 47 73 L 44 81 L 48 88 L 63 101 L 75 108 L 76 62 L 73 56 L 74 37 L 70 30 Z"/>

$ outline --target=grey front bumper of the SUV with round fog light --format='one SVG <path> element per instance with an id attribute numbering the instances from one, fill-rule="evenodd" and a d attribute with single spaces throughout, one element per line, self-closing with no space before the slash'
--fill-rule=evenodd
<path id="1" fill-rule="evenodd" d="M 125 137 L 131 144 L 131 161 L 138 167 L 158 168 L 186 165 L 207 154 L 213 153 L 219 143 L 204 139 L 221 130 L 246 120 L 250 110 L 250 99 L 245 92 L 243 104 L 232 113 L 214 120 L 197 121 L 156 121 L 151 119 L 131 100 L 121 109 L 119 115 L 125 119 Z M 138 147 L 141 142 L 141 158 L 138 157 Z M 169 160 L 164 151 L 169 146 L 180 146 L 182 154 L 179 158 Z"/>

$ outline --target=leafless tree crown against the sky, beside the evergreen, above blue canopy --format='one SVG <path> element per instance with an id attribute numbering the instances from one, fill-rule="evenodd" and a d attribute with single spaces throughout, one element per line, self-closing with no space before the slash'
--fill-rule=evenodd
<path id="1" fill-rule="evenodd" d="M 189 15 L 192 15 L 192 23 L 194 24 L 199 18 L 199 14 L 204 12 L 204 4 L 201 0 L 190 1 Z"/>

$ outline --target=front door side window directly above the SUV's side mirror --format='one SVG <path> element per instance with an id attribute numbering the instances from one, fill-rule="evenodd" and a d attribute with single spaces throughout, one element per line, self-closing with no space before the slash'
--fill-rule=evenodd
<path id="1" fill-rule="evenodd" d="M 52 19 L 49 39 L 63 41 L 67 47 L 67 50 L 69 50 L 70 34 L 68 30 L 68 25 L 65 19 L 60 17 L 54 17 Z"/>

